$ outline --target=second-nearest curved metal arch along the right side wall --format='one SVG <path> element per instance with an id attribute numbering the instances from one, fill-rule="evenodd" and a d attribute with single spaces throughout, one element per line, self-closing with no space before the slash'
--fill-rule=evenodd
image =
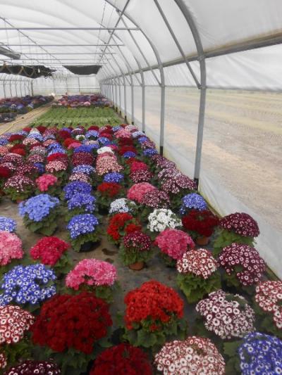
<path id="1" fill-rule="evenodd" d="M 105 0 L 105 1 L 106 1 L 106 3 L 113 6 L 116 9 L 116 11 L 121 12 L 121 9 L 119 9 L 110 0 Z M 125 15 L 125 17 L 128 18 L 128 20 L 130 20 L 130 22 L 133 23 L 133 25 L 135 25 L 136 27 L 138 27 L 140 29 L 140 32 L 142 32 L 144 37 L 147 39 L 147 42 L 151 46 L 152 51 L 154 51 L 154 56 L 156 56 L 156 59 L 157 59 L 157 64 L 158 64 L 159 73 L 160 73 L 160 77 L 161 77 L 161 118 L 160 118 L 159 148 L 160 148 L 160 153 L 162 155 L 164 153 L 164 101 L 165 101 L 165 88 L 166 88 L 163 63 L 161 62 L 161 58 L 159 56 L 159 51 L 157 50 L 156 46 L 154 46 L 152 40 L 142 30 L 142 27 L 140 27 L 140 25 L 138 25 L 135 22 L 135 20 L 133 20 L 133 18 L 130 17 L 130 15 L 128 15 L 128 13 L 126 11 L 123 11 L 123 15 Z"/>

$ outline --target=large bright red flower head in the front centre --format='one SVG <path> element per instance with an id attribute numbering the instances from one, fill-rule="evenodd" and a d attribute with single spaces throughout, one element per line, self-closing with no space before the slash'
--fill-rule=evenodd
<path id="1" fill-rule="evenodd" d="M 153 322 L 168 324 L 173 316 L 183 317 L 183 300 L 173 291 L 173 288 L 159 283 L 147 281 L 140 288 L 128 292 L 124 299 L 125 326 L 133 329 L 134 324 L 144 324 L 145 319 L 151 319 L 152 331 L 161 329 Z"/>

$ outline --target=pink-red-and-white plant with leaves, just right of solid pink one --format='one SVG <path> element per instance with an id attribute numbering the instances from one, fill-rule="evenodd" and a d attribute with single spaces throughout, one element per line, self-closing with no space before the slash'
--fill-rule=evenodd
<path id="1" fill-rule="evenodd" d="M 177 284 L 188 303 L 196 303 L 221 288 L 217 262 L 209 250 L 189 250 L 177 261 L 177 270 Z"/>

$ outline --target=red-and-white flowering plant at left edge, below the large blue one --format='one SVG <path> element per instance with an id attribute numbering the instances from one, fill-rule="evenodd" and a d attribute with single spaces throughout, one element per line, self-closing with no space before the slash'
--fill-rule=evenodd
<path id="1" fill-rule="evenodd" d="M 16 364 L 19 360 L 30 357 L 30 343 L 27 331 L 35 322 L 35 317 L 19 306 L 0 306 L 0 369 L 7 364 Z M 3 362 L 4 357 L 4 362 Z"/>

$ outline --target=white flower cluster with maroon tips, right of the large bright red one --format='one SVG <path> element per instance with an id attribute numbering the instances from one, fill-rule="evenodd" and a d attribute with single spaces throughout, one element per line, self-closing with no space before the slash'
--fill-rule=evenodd
<path id="1" fill-rule="evenodd" d="M 215 291 L 197 303 L 196 311 L 204 318 L 207 330 L 223 340 L 255 331 L 255 312 L 241 295 Z"/>

